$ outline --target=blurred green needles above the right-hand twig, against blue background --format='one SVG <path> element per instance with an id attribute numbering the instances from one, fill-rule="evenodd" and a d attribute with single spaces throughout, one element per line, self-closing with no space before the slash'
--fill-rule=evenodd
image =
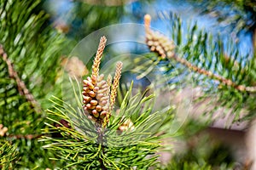
<path id="1" fill-rule="evenodd" d="M 196 24 L 182 22 L 176 14 L 170 14 L 168 18 L 172 20 L 171 39 L 177 44 L 176 51 L 180 58 L 187 59 L 192 65 L 221 75 L 236 84 L 247 84 L 250 80 L 250 77 L 247 77 L 249 61 L 245 60 L 248 54 L 243 55 L 235 42 L 230 39 L 224 44 L 221 37 L 212 37 Z M 246 64 L 242 65 L 242 61 Z M 202 80 L 201 77 L 196 79 L 195 81 Z"/>

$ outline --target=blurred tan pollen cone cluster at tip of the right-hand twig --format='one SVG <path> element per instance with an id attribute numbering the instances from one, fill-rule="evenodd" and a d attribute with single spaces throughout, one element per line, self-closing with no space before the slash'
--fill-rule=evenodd
<path id="1" fill-rule="evenodd" d="M 160 54 L 162 59 L 172 58 L 174 56 L 174 42 L 169 40 L 158 31 L 152 31 L 150 29 L 151 17 L 149 14 L 144 16 L 144 25 L 146 30 L 146 43 L 150 48 L 150 51 Z"/>

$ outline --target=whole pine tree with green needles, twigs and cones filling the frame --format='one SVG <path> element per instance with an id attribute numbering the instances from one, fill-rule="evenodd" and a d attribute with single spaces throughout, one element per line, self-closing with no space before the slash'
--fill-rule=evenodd
<path id="1" fill-rule="evenodd" d="M 79 39 L 79 35 L 114 23 L 116 15 L 124 14 L 122 6 L 102 9 L 76 3 L 76 8 L 83 11 L 76 13 L 78 18 L 88 14 L 101 17 L 97 17 L 99 21 L 95 24 L 84 19 L 87 23 L 81 26 L 84 32 L 71 31 L 65 35 L 63 30 L 51 26 L 49 14 L 42 10 L 43 3 L 0 0 L 1 169 L 234 167 L 228 160 L 229 154 L 221 147 L 216 150 L 222 150 L 225 157 L 212 158 L 200 153 L 191 156 L 195 150 L 189 150 L 182 158 L 173 156 L 166 166 L 160 164 L 160 151 L 172 152 L 169 144 L 163 143 L 174 136 L 193 135 L 201 127 L 196 127 L 196 122 L 188 125 L 189 130 L 182 127 L 171 133 L 170 128 L 177 123 L 177 105 L 154 107 L 155 95 L 150 87 L 144 92 L 132 93 L 132 82 L 120 82 L 122 68 L 129 63 L 117 62 L 112 76 L 100 74 L 108 37 L 99 40 L 93 64 L 86 65 L 89 71 L 83 68 L 79 77 L 70 74 L 69 82 L 60 81 L 61 66 L 68 61 L 61 56 L 67 55 L 73 46 L 68 37 Z M 241 6 L 254 10 L 253 3 L 241 3 Z M 254 11 L 248 13 L 254 14 Z M 103 17 L 105 15 L 108 16 Z M 170 20 L 171 37 L 154 31 L 150 27 L 151 16 L 145 15 L 143 36 L 148 53 L 143 57 L 148 62 L 142 62 L 141 58 L 133 61 L 135 70 L 143 72 L 137 78 L 145 77 L 157 67 L 160 72 L 154 73 L 154 81 L 160 84 L 160 89 L 155 93 L 172 94 L 178 92 L 179 87 L 200 87 L 201 96 L 193 102 L 210 100 L 207 103 L 210 109 L 201 113 L 207 118 L 207 125 L 214 122 L 212 117 L 220 106 L 232 112 L 229 126 L 252 120 L 256 109 L 255 51 L 243 54 L 232 39 L 223 42 L 221 37 L 213 37 L 196 24 L 184 23 L 176 14 L 166 16 L 165 20 Z M 251 28 L 254 29 L 254 25 L 253 22 Z M 75 64 L 83 65 L 83 61 L 73 59 Z M 188 81 L 191 77 L 192 84 Z M 127 84 L 129 87 L 124 88 Z M 69 88 L 70 100 L 61 96 L 65 86 Z M 211 150 L 214 152 L 215 148 Z M 221 161 L 221 165 L 212 160 Z"/>

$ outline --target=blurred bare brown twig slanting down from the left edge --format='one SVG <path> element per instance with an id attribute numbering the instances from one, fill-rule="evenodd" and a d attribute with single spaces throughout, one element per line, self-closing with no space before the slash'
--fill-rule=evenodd
<path id="1" fill-rule="evenodd" d="M 26 84 L 20 79 L 17 71 L 15 71 L 14 65 L 11 62 L 11 60 L 8 58 L 8 54 L 3 49 L 3 45 L 0 44 L 0 55 L 3 58 L 3 61 L 6 62 L 8 66 L 8 72 L 9 72 L 9 77 L 14 79 L 15 82 L 17 83 L 18 91 L 20 95 L 25 96 L 26 100 L 30 102 L 32 107 L 38 111 L 41 112 L 42 109 L 40 105 L 38 104 L 37 100 L 34 98 L 34 96 L 29 92 L 29 90 L 26 88 Z"/>

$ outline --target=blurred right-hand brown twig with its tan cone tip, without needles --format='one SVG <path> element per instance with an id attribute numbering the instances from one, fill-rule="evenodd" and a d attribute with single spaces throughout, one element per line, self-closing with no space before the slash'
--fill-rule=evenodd
<path id="1" fill-rule="evenodd" d="M 148 44 L 148 48 L 150 48 L 151 51 L 159 54 L 162 59 L 174 59 L 178 63 L 188 67 L 190 70 L 195 71 L 201 75 L 205 75 L 214 80 L 217 80 L 218 82 L 221 82 L 226 86 L 236 88 L 238 91 L 256 93 L 256 86 L 249 87 L 241 84 L 236 84 L 236 82 L 233 82 L 228 78 L 221 77 L 217 74 L 212 73 L 212 71 L 207 71 L 196 65 L 193 65 L 187 59 L 178 57 L 177 54 L 175 54 L 174 52 L 174 48 L 175 48 L 174 43 L 164 35 L 160 34 L 160 32 L 152 31 L 150 29 L 150 20 L 151 20 L 150 15 L 146 14 L 144 16 L 146 42 Z"/>

